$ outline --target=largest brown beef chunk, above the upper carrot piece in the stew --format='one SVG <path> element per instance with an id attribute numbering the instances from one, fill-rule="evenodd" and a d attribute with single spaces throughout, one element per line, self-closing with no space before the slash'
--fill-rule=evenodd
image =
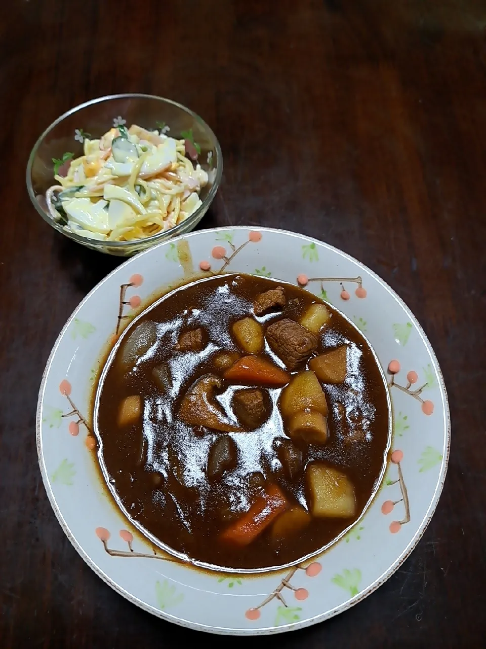
<path id="1" fill-rule="evenodd" d="M 307 360 L 318 346 L 317 336 L 288 318 L 270 324 L 266 339 L 270 348 L 291 371 Z"/>

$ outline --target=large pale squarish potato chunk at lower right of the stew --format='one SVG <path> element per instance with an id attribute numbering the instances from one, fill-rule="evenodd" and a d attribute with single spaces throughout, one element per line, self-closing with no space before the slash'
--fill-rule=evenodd
<path id="1" fill-rule="evenodd" d="M 312 463 L 307 467 L 306 478 L 314 516 L 342 519 L 354 516 L 354 488 L 345 474 L 325 464 Z"/>

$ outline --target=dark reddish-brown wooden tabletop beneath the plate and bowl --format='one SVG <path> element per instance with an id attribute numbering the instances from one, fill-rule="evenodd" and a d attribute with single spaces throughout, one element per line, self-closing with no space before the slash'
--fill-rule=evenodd
<path id="1" fill-rule="evenodd" d="M 191 106 L 224 153 L 200 227 L 328 241 L 417 315 L 443 369 L 452 454 L 419 546 L 376 593 L 258 646 L 474 647 L 486 633 L 486 3 L 6 0 L 0 8 L 0 646 L 107 649 L 202 636 L 132 606 L 65 537 L 35 444 L 43 367 L 119 260 L 49 228 L 25 190 L 40 132 L 86 99 Z M 248 639 L 215 638 L 215 646 Z"/>

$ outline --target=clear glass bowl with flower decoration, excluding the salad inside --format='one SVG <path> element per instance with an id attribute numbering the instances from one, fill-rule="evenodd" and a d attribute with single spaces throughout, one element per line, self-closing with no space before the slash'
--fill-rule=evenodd
<path id="1" fill-rule="evenodd" d="M 165 125 L 166 129 L 170 129 L 167 134 L 181 139 L 183 132 L 192 130 L 194 141 L 201 149 L 198 162 L 209 177 L 207 185 L 200 193 L 202 205 L 179 225 L 146 239 L 99 241 L 79 236 L 69 227 L 58 223 L 47 207 L 45 193 L 49 187 L 56 184 L 54 160 L 62 161 L 66 153 L 73 154 L 75 158 L 81 156 L 85 133 L 90 134 L 91 138 L 99 138 L 111 127 L 124 123 L 127 126 L 137 124 L 148 130 L 161 129 Z M 55 230 L 87 248 L 128 257 L 156 243 L 193 230 L 211 205 L 222 173 L 223 158 L 219 142 L 205 121 L 192 110 L 170 99 L 154 95 L 110 95 L 72 108 L 43 132 L 30 153 L 27 164 L 27 189 L 36 210 Z"/>

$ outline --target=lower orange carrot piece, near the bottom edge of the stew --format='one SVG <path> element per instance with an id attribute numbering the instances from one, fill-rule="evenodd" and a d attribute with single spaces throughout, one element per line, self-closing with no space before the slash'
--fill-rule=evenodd
<path id="1" fill-rule="evenodd" d="M 238 545 L 249 545 L 286 506 L 287 501 L 279 487 L 271 485 L 246 514 L 222 533 L 221 538 Z"/>

